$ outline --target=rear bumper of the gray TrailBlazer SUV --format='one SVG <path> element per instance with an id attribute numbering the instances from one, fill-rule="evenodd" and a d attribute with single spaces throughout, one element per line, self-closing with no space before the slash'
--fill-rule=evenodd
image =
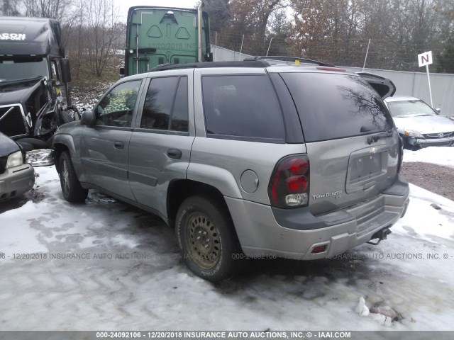
<path id="1" fill-rule="evenodd" d="M 398 177 L 375 198 L 319 216 L 304 212 L 298 223 L 292 210 L 286 210 L 290 217 L 286 220 L 282 215 L 276 218 L 269 205 L 228 197 L 226 202 L 247 256 L 311 260 L 342 254 L 394 225 L 406 212 L 409 186 Z M 312 254 L 316 246 L 326 249 Z"/>

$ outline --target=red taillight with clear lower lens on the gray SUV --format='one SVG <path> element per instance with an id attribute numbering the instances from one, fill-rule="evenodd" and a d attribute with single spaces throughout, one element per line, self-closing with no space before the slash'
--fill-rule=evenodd
<path id="1" fill-rule="evenodd" d="M 270 200 L 279 208 L 301 207 L 309 203 L 309 159 L 286 157 L 279 161 L 270 180 Z"/>

